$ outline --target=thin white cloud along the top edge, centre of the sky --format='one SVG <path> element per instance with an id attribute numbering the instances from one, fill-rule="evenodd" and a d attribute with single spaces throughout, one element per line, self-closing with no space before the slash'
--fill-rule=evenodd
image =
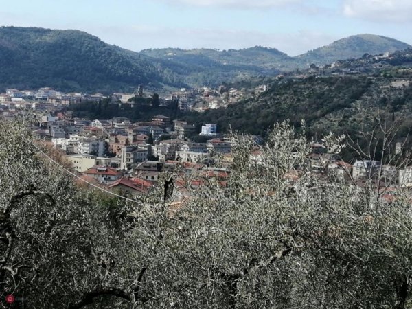
<path id="1" fill-rule="evenodd" d="M 219 7 L 219 8 L 278 8 L 302 0 L 160 0 L 168 4 L 190 5 L 198 7 Z"/>

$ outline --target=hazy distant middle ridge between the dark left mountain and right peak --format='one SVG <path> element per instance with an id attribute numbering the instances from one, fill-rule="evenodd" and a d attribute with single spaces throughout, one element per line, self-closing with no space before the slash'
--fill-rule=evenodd
<path id="1" fill-rule="evenodd" d="M 180 76 L 191 86 L 217 86 L 222 82 L 242 80 L 251 76 L 275 76 L 288 69 L 284 63 L 293 58 L 267 47 L 247 49 L 145 49 L 140 52 L 154 58 L 163 73 Z M 176 76 L 173 76 L 176 78 Z M 167 78 L 166 78 L 167 80 Z"/>

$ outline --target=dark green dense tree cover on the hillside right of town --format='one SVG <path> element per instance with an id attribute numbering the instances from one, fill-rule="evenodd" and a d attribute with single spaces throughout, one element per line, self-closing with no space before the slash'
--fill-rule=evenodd
<path id="1" fill-rule="evenodd" d="M 371 82 L 364 77 L 311 77 L 279 82 L 258 98 L 229 105 L 227 109 L 191 113 L 185 116 L 185 119 L 193 123 L 217 122 L 222 132 L 231 126 L 233 130 L 260 135 L 266 135 L 274 122 L 290 119 L 295 126 L 299 126 L 301 119 L 305 119 L 308 128 L 313 132 L 314 122 L 324 119 L 330 113 L 350 108 L 370 86 Z M 322 134 L 321 130 L 317 128 L 314 133 Z"/>

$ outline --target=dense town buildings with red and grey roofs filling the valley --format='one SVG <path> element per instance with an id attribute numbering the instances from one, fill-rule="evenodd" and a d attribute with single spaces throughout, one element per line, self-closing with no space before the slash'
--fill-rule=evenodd
<path id="1" fill-rule="evenodd" d="M 190 95 L 173 95 L 189 102 L 186 98 Z M 210 91 L 208 95 L 215 93 Z M 120 93 L 113 95 L 115 104 L 118 101 L 130 104 L 132 97 Z M 95 104 L 104 99 L 100 93 L 60 93 L 50 88 L 38 91 L 8 89 L 0 99 L 4 118 L 31 111 L 38 122 L 32 127 L 36 140 L 57 152 L 60 163 L 78 175 L 80 182 L 137 197 L 150 192 L 156 183 L 164 180 L 163 175 L 172 174 L 177 177 L 176 187 L 181 193 L 178 201 L 183 203 L 188 197 L 183 176 L 193 176 L 192 185 L 195 186 L 202 185 L 207 179 L 216 179 L 225 186 L 231 174 L 232 148 L 236 144 L 233 144 L 233 136 L 218 133 L 216 124 L 201 124 L 201 132 L 197 132 L 196 124 L 172 120 L 165 115 L 133 123 L 127 117 L 78 119 L 64 108 L 82 100 Z M 186 108 L 183 103 L 179 107 Z M 259 138 L 255 139 L 250 161 L 263 164 Z M 379 183 L 377 190 L 385 190 L 389 198 L 395 187 L 412 183 L 412 167 L 397 170 L 391 165 L 381 165 L 380 161 L 345 162 L 338 155 L 328 153 L 321 142 L 312 143 L 307 159 L 312 172 L 332 176 L 334 181 L 362 186 L 366 180 L 374 179 Z M 299 169 L 290 172 L 292 181 L 298 178 Z"/>

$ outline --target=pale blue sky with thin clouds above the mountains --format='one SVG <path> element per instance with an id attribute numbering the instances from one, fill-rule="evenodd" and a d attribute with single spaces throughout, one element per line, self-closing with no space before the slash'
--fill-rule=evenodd
<path id="1" fill-rule="evenodd" d="M 260 45 L 296 56 L 354 34 L 412 45 L 412 0 L 14 0 L 0 25 L 82 30 L 136 52 Z"/>

